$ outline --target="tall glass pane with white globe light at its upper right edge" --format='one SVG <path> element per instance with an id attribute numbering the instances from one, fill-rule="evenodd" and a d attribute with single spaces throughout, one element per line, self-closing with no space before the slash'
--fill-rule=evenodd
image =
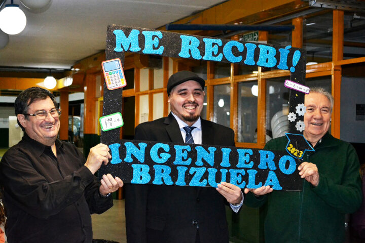
<path id="1" fill-rule="evenodd" d="M 237 142 L 257 143 L 257 81 L 238 84 Z"/>

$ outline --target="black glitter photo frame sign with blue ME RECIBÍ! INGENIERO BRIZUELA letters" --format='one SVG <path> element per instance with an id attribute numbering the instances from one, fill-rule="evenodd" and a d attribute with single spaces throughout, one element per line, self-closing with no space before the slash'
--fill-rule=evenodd
<path id="1" fill-rule="evenodd" d="M 295 82 L 295 86 L 289 87 L 290 142 L 282 148 L 282 151 L 269 151 L 214 145 L 130 141 L 120 140 L 120 130 L 112 129 L 101 131 L 101 142 L 111 149 L 112 159 L 111 163 L 101 166 L 99 175 L 111 173 L 113 176 L 119 176 L 125 183 L 135 184 L 215 187 L 221 181 L 228 181 L 241 188 L 270 185 L 275 190 L 302 189 L 303 179 L 300 178 L 297 168 L 302 162 L 300 157 L 312 150 L 303 137 L 305 113 L 303 91 L 307 91 L 304 89 L 306 74 L 304 49 L 108 25 L 106 59 L 120 58 L 122 65 L 125 52 L 161 58 L 187 58 L 259 66 L 266 70 L 271 68 L 287 70 L 288 74 L 290 73 L 290 80 Z M 119 112 L 123 101 L 123 89 L 106 89 L 106 85 L 107 83 L 104 85 L 103 115 Z M 304 90 L 293 89 L 297 87 Z"/>

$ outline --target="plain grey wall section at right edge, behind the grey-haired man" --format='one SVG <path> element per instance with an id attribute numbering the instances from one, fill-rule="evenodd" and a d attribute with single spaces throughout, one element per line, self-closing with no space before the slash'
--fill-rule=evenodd
<path id="1" fill-rule="evenodd" d="M 356 104 L 365 104 L 365 78 L 342 77 L 341 139 L 350 143 L 365 143 L 365 120 L 356 120 Z"/>

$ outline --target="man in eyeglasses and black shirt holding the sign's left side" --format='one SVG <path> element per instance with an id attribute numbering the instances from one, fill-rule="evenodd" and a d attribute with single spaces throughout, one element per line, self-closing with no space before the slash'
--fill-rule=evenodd
<path id="1" fill-rule="evenodd" d="M 94 176 L 111 158 L 105 144 L 87 160 L 72 144 L 57 139 L 61 110 L 49 91 L 33 87 L 15 100 L 24 132 L 0 162 L 8 242 L 91 242 L 92 213 L 113 206 L 110 194 L 123 186 L 118 177 Z"/>

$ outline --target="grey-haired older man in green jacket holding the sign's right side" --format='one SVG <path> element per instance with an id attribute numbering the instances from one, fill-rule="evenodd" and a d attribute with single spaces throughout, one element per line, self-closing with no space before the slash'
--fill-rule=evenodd
<path id="1" fill-rule="evenodd" d="M 305 96 L 304 137 L 315 152 L 306 152 L 299 167 L 302 191 L 273 191 L 269 186 L 245 189 L 245 204 L 260 207 L 267 203 L 265 242 L 342 243 L 345 214 L 355 212 L 362 192 L 359 160 L 347 142 L 328 133 L 333 97 L 321 88 Z M 264 149 L 284 150 L 287 139 L 269 141 Z"/>

